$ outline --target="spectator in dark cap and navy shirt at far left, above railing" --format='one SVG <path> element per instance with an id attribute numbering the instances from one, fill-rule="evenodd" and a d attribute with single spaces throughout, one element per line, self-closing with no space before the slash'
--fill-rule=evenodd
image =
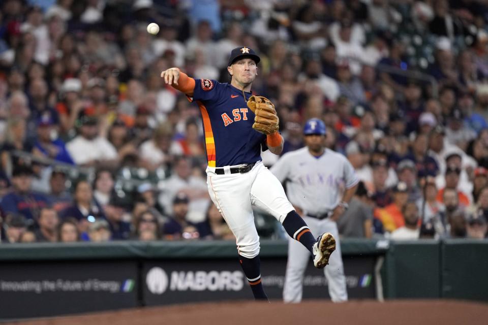
<path id="1" fill-rule="evenodd" d="M 5 213 L 20 213 L 31 224 L 37 222 L 39 212 L 50 204 L 44 194 L 32 191 L 33 170 L 30 166 L 16 165 L 12 172 L 13 188 L 0 202 Z"/>

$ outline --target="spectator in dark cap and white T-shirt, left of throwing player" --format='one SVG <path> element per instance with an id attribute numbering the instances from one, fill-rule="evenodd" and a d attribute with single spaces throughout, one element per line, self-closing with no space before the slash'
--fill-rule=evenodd
<path id="1" fill-rule="evenodd" d="M 117 150 L 100 135 L 95 116 L 82 112 L 79 116 L 79 135 L 66 148 L 76 165 L 113 168 L 118 164 Z"/>

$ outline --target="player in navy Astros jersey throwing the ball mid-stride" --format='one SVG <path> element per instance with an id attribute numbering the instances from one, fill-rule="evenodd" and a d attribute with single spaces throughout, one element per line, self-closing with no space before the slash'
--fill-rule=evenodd
<path id="1" fill-rule="evenodd" d="M 267 300 L 261 283 L 253 205 L 275 216 L 290 237 L 314 255 L 317 268 L 328 264 L 335 240 L 331 234 L 317 240 L 313 237 L 286 198 L 280 181 L 262 164 L 261 148 L 280 154 L 283 138 L 278 133 L 275 106 L 251 93 L 259 61 L 259 56 L 246 46 L 233 49 L 227 68 L 230 84 L 193 79 L 178 68 L 163 71 L 161 77 L 200 107 L 208 192 L 236 238 L 239 262 L 254 298 Z"/>

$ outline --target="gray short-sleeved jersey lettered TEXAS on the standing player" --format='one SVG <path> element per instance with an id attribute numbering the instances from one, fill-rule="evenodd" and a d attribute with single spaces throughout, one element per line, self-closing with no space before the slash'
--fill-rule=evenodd
<path id="1" fill-rule="evenodd" d="M 359 182 L 347 158 L 330 149 L 320 157 L 307 147 L 287 152 L 270 170 L 282 183 L 287 182 L 288 200 L 315 215 L 333 210 L 344 190 Z"/>

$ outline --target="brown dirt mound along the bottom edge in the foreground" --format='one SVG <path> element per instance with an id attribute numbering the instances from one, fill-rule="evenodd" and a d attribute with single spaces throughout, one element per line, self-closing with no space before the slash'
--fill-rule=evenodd
<path id="1" fill-rule="evenodd" d="M 310 322 L 311 321 L 311 322 Z M 281 302 L 205 303 L 150 307 L 83 316 L 57 317 L 35 321 L 10 322 L 17 325 L 286 325 L 321 324 L 392 324 L 451 325 L 488 323 L 488 304 L 457 301 L 352 301 L 332 304 L 307 301 L 296 305 Z"/>

